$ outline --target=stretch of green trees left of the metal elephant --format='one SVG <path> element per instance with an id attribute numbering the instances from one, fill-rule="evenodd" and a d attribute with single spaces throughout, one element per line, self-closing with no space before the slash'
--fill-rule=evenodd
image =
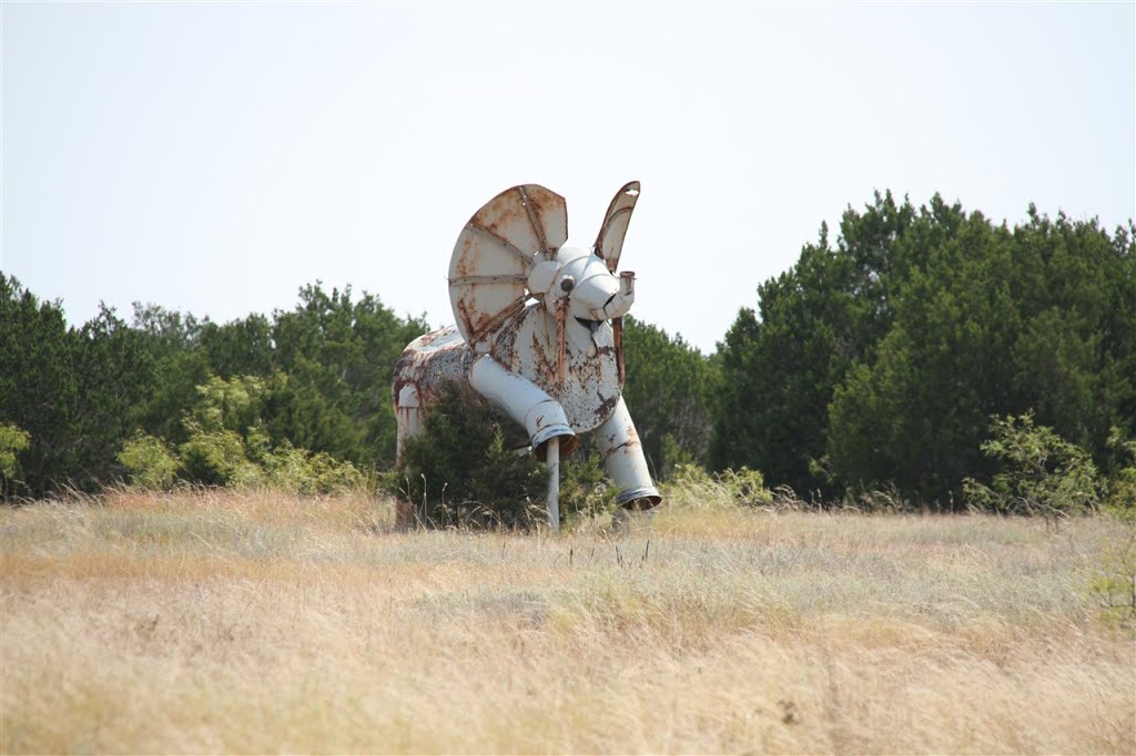
<path id="1" fill-rule="evenodd" d="M 394 362 L 426 329 L 318 283 L 272 317 L 219 325 L 136 304 L 130 322 L 103 308 L 68 327 L 59 303 L 0 276 L 0 428 L 26 435 L 3 486 L 98 489 L 139 455 L 220 485 L 266 465 L 381 469 L 394 457 Z"/>

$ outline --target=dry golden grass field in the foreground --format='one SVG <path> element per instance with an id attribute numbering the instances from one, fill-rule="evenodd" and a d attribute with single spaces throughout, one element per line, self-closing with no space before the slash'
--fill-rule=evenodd
<path id="1" fill-rule="evenodd" d="M 1103 518 L 390 522 L 219 492 L 0 510 L 0 750 L 1136 751 Z"/>

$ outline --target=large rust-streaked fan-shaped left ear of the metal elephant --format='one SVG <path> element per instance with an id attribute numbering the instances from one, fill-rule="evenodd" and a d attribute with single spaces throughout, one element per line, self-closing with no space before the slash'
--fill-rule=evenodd
<path id="1" fill-rule="evenodd" d="M 484 353 L 525 309 L 528 272 L 568 238 L 565 199 L 536 184 L 513 186 L 474 213 L 450 257 L 450 304 L 458 330 Z"/>

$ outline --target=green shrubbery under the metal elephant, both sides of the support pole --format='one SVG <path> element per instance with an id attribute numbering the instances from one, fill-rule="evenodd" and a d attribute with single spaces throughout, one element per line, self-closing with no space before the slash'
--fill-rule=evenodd
<path id="1" fill-rule="evenodd" d="M 449 384 L 421 432 L 406 439 L 402 464 L 385 487 L 409 501 L 424 526 L 529 529 L 545 519 L 549 473 L 516 430 L 468 385 Z M 562 459 L 560 473 L 566 523 L 611 506 L 594 452 Z"/>

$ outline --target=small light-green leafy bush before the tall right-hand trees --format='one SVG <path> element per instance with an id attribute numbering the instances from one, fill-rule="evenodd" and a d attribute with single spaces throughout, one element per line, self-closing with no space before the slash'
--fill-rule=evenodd
<path id="1" fill-rule="evenodd" d="M 963 481 L 972 506 L 996 512 L 1041 514 L 1046 522 L 1095 509 L 1102 486 L 1088 454 L 1034 415 L 993 418 L 991 438 L 982 444 L 987 456 L 1005 464 L 991 486 Z"/>

